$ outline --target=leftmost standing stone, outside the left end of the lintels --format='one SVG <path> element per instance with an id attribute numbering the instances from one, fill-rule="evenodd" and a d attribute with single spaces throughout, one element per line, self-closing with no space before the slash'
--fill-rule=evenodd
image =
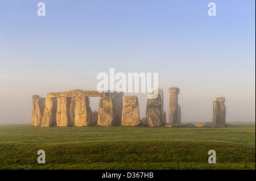
<path id="1" fill-rule="evenodd" d="M 44 107 L 45 107 L 46 98 L 39 98 L 35 100 L 35 110 L 34 110 L 34 126 L 40 127 L 42 124 L 42 118 L 44 115 Z"/>

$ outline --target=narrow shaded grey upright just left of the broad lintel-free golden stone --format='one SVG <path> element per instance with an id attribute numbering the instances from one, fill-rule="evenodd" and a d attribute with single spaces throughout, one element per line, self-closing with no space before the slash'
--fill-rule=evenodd
<path id="1" fill-rule="evenodd" d="M 113 125 L 119 126 L 122 122 L 123 111 L 123 98 L 119 96 L 113 97 L 113 111 L 114 111 L 114 123 Z"/>

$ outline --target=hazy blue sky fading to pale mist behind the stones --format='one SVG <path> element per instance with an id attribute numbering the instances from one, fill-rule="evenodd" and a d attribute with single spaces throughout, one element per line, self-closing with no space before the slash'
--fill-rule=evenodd
<path id="1" fill-rule="evenodd" d="M 217 96 L 227 121 L 255 121 L 255 1 L 0 0 L 0 124 L 30 123 L 31 95 L 96 90 L 110 68 L 158 72 L 166 111 L 180 87 L 182 121 L 210 121 Z"/>

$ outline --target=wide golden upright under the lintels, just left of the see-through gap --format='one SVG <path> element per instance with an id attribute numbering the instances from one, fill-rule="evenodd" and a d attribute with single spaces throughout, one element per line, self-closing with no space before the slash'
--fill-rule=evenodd
<path id="1" fill-rule="evenodd" d="M 75 99 L 75 126 L 86 127 L 92 125 L 93 113 L 88 96 L 78 96 Z"/>

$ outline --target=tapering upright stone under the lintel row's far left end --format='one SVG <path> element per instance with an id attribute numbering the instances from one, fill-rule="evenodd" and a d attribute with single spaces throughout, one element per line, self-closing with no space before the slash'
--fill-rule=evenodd
<path id="1" fill-rule="evenodd" d="M 41 127 L 54 127 L 56 123 L 57 99 L 46 98 Z"/>

